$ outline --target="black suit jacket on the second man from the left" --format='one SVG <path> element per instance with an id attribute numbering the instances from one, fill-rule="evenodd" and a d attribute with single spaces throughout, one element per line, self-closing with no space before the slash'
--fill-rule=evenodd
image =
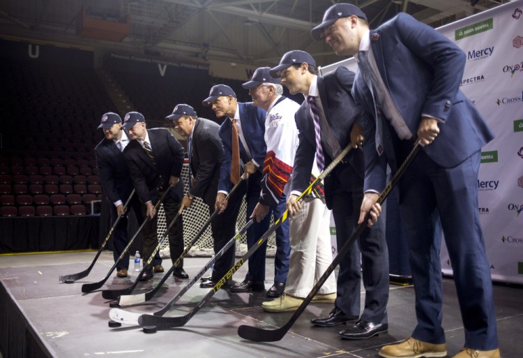
<path id="1" fill-rule="evenodd" d="M 123 149 L 138 197 L 143 203 L 151 201 L 156 204 L 158 187 L 167 188 L 169 177 L 174 176 L 179 177 L 180 180 L 174 188 L 171 188 L 169 195 L 174 200 L 181 201 L 183 198 L 181 169 L 185 156 L 183 147 L 165 128 L 148 129 L 147 133 L 149 133 L 156 165 L 137 140 L 131 140 L 126 149 Z"/>

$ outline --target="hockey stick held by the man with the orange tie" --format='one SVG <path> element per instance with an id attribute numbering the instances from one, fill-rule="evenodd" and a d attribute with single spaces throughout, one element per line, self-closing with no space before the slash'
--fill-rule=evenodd
<path id="1" fill-rule="evenodd" d="M 238 183 L 236 183 L 236 185 L 231 189 L 229 194 L 227 194 L 227 196 L 225 197 L 225 200 L 229 200 L 229 197 L 232 195 L 232 193 L 234 193 L 236 188 L 238 188 L 238 186 L 240 186 L 240 184 L 243 180 L 245 180 L 245 178 L 242 175 L 240 178 L 240 181 L 238 181 Z M 199 237 L 202 236 L 202 234 L 205 232 L 207 226 L 209 226 L 209 224 L 211 223 L 211 221 L 213 220 L 213 218 L 216 215 L 218 215 L 218 210 L 215 210 L 213 212 L 213 214 L 211 215 L 211 217 L 209 219 L 207 219 L 207 221 L 204 223 L 204 226 L 199 230 L 199 232 L 197 232 L 194 239 L 192 239 L 192 241 L 190 241 L 190 243 L 185 248 L 183 253 L 181 253 L 178 260 L 176 260 L 176 262 L 174 262 L 172 267 L 167 271 L 167 274 L 165 274 L 162 277 L 162 279 L 160 280 L 158 285 L 156 285 L 155 288 L 153 288 L 152 290 L 150 290 L 148 292 L 141 293 L 141 294 L 130 294 L 132 292 L 132 290 L 130 290 L 129 292 L 120 294 L 119 295 L 120 297 L 116 296 L 116 297 L 118 297 L 118 304 L 120 306 L 130 306 L 132 304 L 142 304 L 145 301 L 149 301 L 149 299 L 153 298 L 154 295 L 156 294 L 156 292 L 158 292 L 158 290 L 160 290 L 162 285 L 165 283 L 165 281 L 167 281 L 167 278 L 169 278 L 169 276 L 172 274 L 172 271 L 174 271 L 174 268 L 180 264 L 181 260 L 183 260 L 183 258 L 185 258 L 185 255 L 187 255 L 187 253 L 192 248 L 192 246 L 196 243 L 196 241 L 198 241 Z"/>

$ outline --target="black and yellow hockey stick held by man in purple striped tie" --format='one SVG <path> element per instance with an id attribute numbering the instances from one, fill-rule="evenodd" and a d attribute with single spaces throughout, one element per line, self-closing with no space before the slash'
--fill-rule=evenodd
<path id="1" fill-rule="evenodd" d="M 322 179 L 324 179 L 324 177 L 326 177 L 334 169 L 334 167 L 336 165 L 338 165 L 338 163 L 340 163 L 340 161 L 342 161 L 342 159 L 347 155 L 347 153 L 349 153 L 350 150 L 351 150 L 351 144 L 347 145 L 347 147 L 345 147 L 345 149 L 343 149 L 341 151 L 341 153 L 338 154 L 338 156 L 332 161 L 332 163 L 329 164 L 328 167 L 326 167 L 325 170 L 323 172 L 321 172 L 321 174 L 319 174 L 319 176 L 316 179 L 314 179 L 314 181 L 312 181 L 312 183 L 310 183 L 308 188 L 306 188 L 305 191 L 303 191 L 303 193 L 301 193 L 301 195 L 298 197 L 298 200 L 301 200 L 303 197 L 306 197 L 307 195 L 309 195 L 312 192 L 312 188 L 314 188 L 314 185 L 318 181 L 321 181 Z M 172 328 L 172 327 L 182 327 L 183 325 L 185 325 L 185 323 L 187 323 L 190 320 L 190 318 L 192 318 L 192 316 L 195 315 L 195 313 L 197 313 L 199 311 L 199 309 L 202 308 L 202 306 L 204 306 L 204 304 L 206 304 L 207 301 L 209 301 L 209 299 L 211 299 L 211 297 L 213 297 L 213 295 L 222 287 L 223 283 L 225 281 L 227 281 L 227 278 L 229 278 L 230 276 L 232 276 L 232 274 L 234 274 L 236 271 L 238 271 L 238 269 L 245 263 L 245 261 L 247 261 L 250 258 L 250 256 L 253 253 L 255 253 L 255 251 L 262 244 L 264 244 L 264 242 L 268 239 L 268 237 L 270 237 L 271 234 L 273 234 L 273 232 L 275 232 L 275 230 L 278 229 L 280 227 L 280 225 L 282 225 L 282 223 L 287 220 L 287 218 L 288 218 L 287 213 L 288 213 L 288 210 L 285 210 L 285 212 L 282 214 L 282 216 L 280 218 L 278 218 L 277 221 L 275 221 L 274 225 L 271 228 L 269 228 L 258 239 L 258 241 L 256 241 L 255 245 L 253 245 L 247 251 L 247 253 L 245 253 L 240 258 L 240 260 L 238 260 L 238 262 L 236 262 L 236 264 L 234 264 L 234 266 L 229 270 L 229 272 L 227 272 L 227 274 L 225 274 L 225 276 L 223 276 L 220 279 L 220 281 L 212 288 L 212 290 L 210 290 L 204 296 L 204 298 L 201 301 L 199 301 L 199 304 L 197 304 L 195 306 L 195 308 L 192 308 L 192 310 L 189 313 L 187 313 L 186 315 L 180 316 L 180 317 L 161 317 L 161 315 L 164 314 L 165 311 L 167 311 L 167 309 L 168 309 L 168 308 L 167 309 L 164 308 L 160 311 L 153 313 L 153 315 L 141 315 L 138 318 L 139 325 L 141 325 L 141 326 L 154 325 L 160 329 Z"/>

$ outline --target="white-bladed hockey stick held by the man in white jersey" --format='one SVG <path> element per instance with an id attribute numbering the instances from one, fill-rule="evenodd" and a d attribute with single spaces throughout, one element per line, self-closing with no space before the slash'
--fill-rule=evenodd
<path id="1" fill-rule="evenodd" d="M 180 299 L 180 297 L 183 296 L 183 294 L 185 294 L 185 292 L 187 292 L 191 287 L 192 285 L 194 285 L 198 279 L 200 277 L 202 277 L 205 272 L 211 268 L 212 264 L 218 260 L 219 258 L 222 257 L 222 255 L 225 253 L 225 251 L 227 251 L 233 244 L 235 241 L 237 241 L 238 239 L 241 238 L 241 236 L 243 235 L 243 233 L 245 231 L 248 230 L 248 228 L 250 228 L 250 226 L 254 223 L 254 220 L 250 220 L 248 221 L 248 223 L 245 223 L 245 225 L 243 225 L 243 228 L 240 229 L 240 231 L 238 231 L 238 233 L 236 235 L 234 235 L 234 237 L 232 237 L 232 239 L 230 239 L 227 244 L 225 244 L 225 246 L 222 247 L 222 249 L 220 251 L 218 251 L 218 253 L 216 253 L 213 258 L 207 262 L 205 264 L 205 266 L 198 272 L 198 274 L 196 274 L 195 277 L 192 278 L 192 280 L 190 281 L 190 283 L 188 285 L 186 285 L 180 292 L 178 292 L 178 294 L 176 294 L 176 296 L 171 299 L 169 302 L 167 302 L 167 304 L 165 304 L 165 306 L 163 306 L 160 311 L 156 311 L 154 312 L 153 314 L 154 315 L 164 315 L 165 312 L 167 312 L 169 310 L 169 308 L 171 308 L 171 306 Z M 231 273 L 231 271 L 229 270 L 229 272 L 227 272 L 227 274 Z M 222 285 L 225 285 L 225 283 L 227 283 L 227 280 L 229 278 L 231 278 L 232 274 L 234 274 L 234 272 L 232 272 L 230 275 L 226 275 L 224 276 L 219 283 L 216 284 L 216 286 L 219 286 L 218 289 L 222 286 Z M 129 312 L 129 311 L 124 311 L 124 310 L 121 310 L 119 308 L 113 308 L 111 311 L 109 311 L 109 317 L 116 321 L 116 322 L 120 322 L 120 323 L 124 323 L 126 325 L 138 325 L 138 319 L 139 317 L 142 315 L 142 313 L 134 313 L 134 312 Z"/>

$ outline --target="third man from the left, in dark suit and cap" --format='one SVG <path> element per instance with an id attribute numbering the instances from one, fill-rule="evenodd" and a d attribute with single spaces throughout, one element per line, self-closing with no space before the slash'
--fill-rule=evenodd
<path id="1" fill-rule="evenodd" d="M 216 192 L 218 191 L 218 178 L 220 166 L 223 161 L 223 147 L 218 130 L 220 126 L 209 119 L 199 118 L 190 105 L 179 104 L 174 107 L 171 115 L 166 119 L 172 121 L 174 129 L 187 137 L 189 154 L 189 180 L 188 193 L 183 197 L 181 209 L 190 207 L 195 197 L 201 197 L 209 206 L 209 215 L 215 211 Z M 232 218 L 232 208 L 214 216 L 211 221 L 214 252 L 218 253 L 227 242 L 232 239 L 225 234 L 224 226 Z M 234 264 L 234 245 L 227 250 L 221 258 L 216 260 L 211 277 L 200 283 L 202 288 L 213 288 Z M 227 283 L 228 285 L 228 283 Z"/>

